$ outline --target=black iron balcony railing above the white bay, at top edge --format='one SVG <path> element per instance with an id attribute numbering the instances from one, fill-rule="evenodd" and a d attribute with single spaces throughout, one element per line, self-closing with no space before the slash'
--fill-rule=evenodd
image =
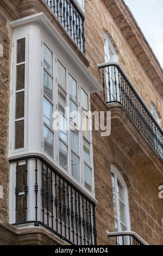
<path id="1" fill-rule="evenodd" d="M 85 54 L 84 15 L 73 0 L 45 0 L 53 14 Z"/>

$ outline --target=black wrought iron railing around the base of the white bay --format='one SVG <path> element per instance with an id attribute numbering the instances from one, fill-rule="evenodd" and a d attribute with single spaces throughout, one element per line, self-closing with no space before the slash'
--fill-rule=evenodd
<path id="1" fill-rule="evenodd" d="M 13 225 L 43 225 L 72 245 L 96 245 L 95 204 L 89 198 L 40 157 L 11 164 Z"/>

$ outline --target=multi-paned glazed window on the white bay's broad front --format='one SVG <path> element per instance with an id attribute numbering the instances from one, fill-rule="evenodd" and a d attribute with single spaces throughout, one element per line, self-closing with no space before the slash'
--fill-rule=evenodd
<path id="1" fill-rule="evenodd" d="M 53 71 L 53 55 L 46 44 L 43 44 L 43 135 L 44 150 L 55 159 L 57 154 L 59 166 L 70 173 L 78 182 L 83 182 L 87 190 L 92 192 L 92 149 L 89 131 L 89 93 L 79 87 L 77 79 L 57 59 L 57 70 Z M 53 84 L 53 72 L 57 71 L 57 86 Z M 56 95 L 58 97 L 56 97 Z M 57 109 L 60 115 L 58 136 L 53 130 L 53 112 Z M 80 107 L 81 106 L 81 107 Z M 70 117 L 65 113 L 70 107 Z M 78 112 L 78 115 L 73 113 Z M 82 124 L 80 130 L 79 124 Z M 68 124 L 70 130 L 67 130 Z M 58 141 L 58 150 L 57 150 Z M 82 146 L 83 145 L 83 146 Z M 83 177 L 83 178 L 82 178 Z"/>

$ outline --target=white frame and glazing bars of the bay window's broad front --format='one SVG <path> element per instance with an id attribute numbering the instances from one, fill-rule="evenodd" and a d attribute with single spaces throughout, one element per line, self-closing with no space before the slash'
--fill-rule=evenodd
<path id="1" fill-rule="evenodd" d="M 61 58 L 61 56 L 58 56 L 57 52 L 55 52 L 55 50 L 53 50 L 53 47 L 50 46 L 48 44 L 48 41 L 46 40 L 42 40 L 42 58 L 43 58 L 43 45 L 46 45 L 48 47 L 48 49 L 52 52 L 53 54 L 53 110 L 58 110 L 60 112 L 60 114 L 64 115 L 59 107 L 58 107 L 58 61 L 61 63 L 62 66 L 64 66 L 64 68 L 66 69 L 66 102 L 67 105 L 66 107 L 70 107 L 70 84 L 69 84 L 69 75 L 71 75 L 73 77 L 73 79 L 77 82 L 77 103 L 78 103 L 78 111 L 80 113 L 80 126 L 82 126 L 82 97 L 81 97 L 81 91 L 82 89 L 84 90 L 84 92 L 87 94 L 88 96 L 88 106 L 89 106 L 89 112 L 91 109 L 90 106 L 90 92 L 83 87 L 83 85 L 78 81 L 78 76 L 76 74 L 74 74 L 73 70 L 70 70 L 70 68 L 66 65 L 66 63 L 64 62 L 64 58 Z M 42 59 L 42 63 L 43 63 L 43 59 Z M 42 72 L 43 72 L 43 65 L 42 65 Z M 56 75 L 56 78 L 55 78 Z M 43 73 L 42 73 L 42 77 L 43 77 Z M 60 86 L 61 87 L 61 86 Z M 62 88 L 62 87 L 61 87 Z M 62 88 L 63 89 L 63 88 Z M 42 83 L 42 90 L 43 90 L 43 83 Z M 65 115 L 64 115 L 65 116 Z M 42 118 L 43 118 L 43 113 L 42 113 Z M 66 118 L 66 116 L 65 116 Z M 89 124 L 90 124 L 90 113 L 88 115 L 89 118 Z M 67 118 L 66 118 L 67 119 Z M 67 126 L 69 124 L 73 123 L 67 119 Z M 44 124 L 44 122 L 43 122 Z M 74 125 L 73 125 L 74 126 Z M 73 180 L 76 180 L 80 185 L 83 185 L 84 189 L 87 192 L 91 192 L 91 193 L 95 193 L 95 185 L 94 185 L 94 173 L 93 173 L 93 150 L 92 150 L 92 134 L 91 131 L 89 131 L 90 134 L 90 139 L 86 140 L 90 143 L 90 154 L 91 154 L 91 163 L 88 164 L 86 163 L 86 161 L 84 160 L 84 151 L 83 151 L 83 137 L 85 137 L 83 135 L 83 131 L 82 131 L 82 127 L 76 127 L 78 134 L 79 134 L 79 154 L 76 154 L 77 156 L 79 156 L 79 169 L 80 169 L 80 180 L 77 180 L 76 178 L 73 177 L 72 175 L 72 168 L 71 168 L 71 152 L 74 152 L 71 149 L 71 130 L 67 131 L 67 143 L 64 142 L 60 136 L 59 136 L 59 131 L 54 131 L 54 161 L 57 162 L 57 165 L 59 166 L 59 168 L 62 170 L 62 172 L 64 173 L 68 173 L 71 178 Z M 62 142 L 64 142 L 64 144 L 68 147 L 68 169 L 64 169 L 60 163 L 59 163 L 59 140 L 61 140 Z M 44 140 L 43 141 L 43 149 L 44 149 Z M 44 154 L 47 156 L 47 158 L 52 159 L 51 156 L 49 156 L 46 151 L 44 151 Z M 85 187 L 85 177 L 84 177 L 84 164 L 86 164 L 89 168 L 91 168 L 91 178 L 92 178 L 92 186 L 91 186 L 91 191 Z"/>

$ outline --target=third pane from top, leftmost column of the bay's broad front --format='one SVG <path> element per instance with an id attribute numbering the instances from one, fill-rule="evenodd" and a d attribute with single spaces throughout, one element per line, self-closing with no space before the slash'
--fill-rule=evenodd
<path id="1" fill-rule="evenodd" d="M 53 124 L 53 105 L 46 97 L 43 97 L 43 121 L 50 127 Z"/>

